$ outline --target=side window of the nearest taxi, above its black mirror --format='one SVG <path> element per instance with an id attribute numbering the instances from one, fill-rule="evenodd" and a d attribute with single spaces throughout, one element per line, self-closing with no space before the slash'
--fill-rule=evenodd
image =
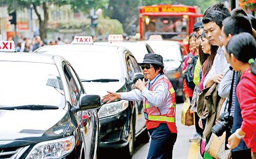
<path id="1" fill-rule="evenodd" d="M 72 105 L 77 106 L 79 103 L 79 98 L 80 98 L 79 88 L 77 87 L 75 79 L 72 76 L 71 71 L 68 69 L 67 65 L 64 65 L 63 71 L 65 74 L 65 78 L 68 83 L 68 86 L 70 88 Z"/>

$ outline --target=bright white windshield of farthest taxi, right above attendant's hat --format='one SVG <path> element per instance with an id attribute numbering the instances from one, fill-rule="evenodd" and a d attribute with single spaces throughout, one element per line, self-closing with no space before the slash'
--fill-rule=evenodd
<path id="1" fill-rule="evenodd" d="M 179 49 L 175 46 L 151 44 L 151 48 L 156 54 L 159 54 L 163 57 L 163 61 L 181 61 L 181 53 Z"/>

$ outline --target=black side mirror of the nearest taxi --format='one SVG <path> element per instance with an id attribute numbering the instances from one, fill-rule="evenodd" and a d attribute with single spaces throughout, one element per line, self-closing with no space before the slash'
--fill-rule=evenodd
<path id="1" fill-rule="evenodd" d="M 80 96 L 80 109 L 88 110 L 88 109 L 97 109 L 101 106 L 100 96 L 98 95 L 81 95 Z"/>

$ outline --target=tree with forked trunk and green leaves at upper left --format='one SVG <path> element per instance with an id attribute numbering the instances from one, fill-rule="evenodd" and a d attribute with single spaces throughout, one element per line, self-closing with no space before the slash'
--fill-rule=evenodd
<path id="1" fill-rule="evenodd" d="M 47 26 L 49 20 L 48 8 L 50 5 L 54 4 L 57 6 L 68 5 L 72 6 L 72 9 L 82 10 L 83 12 L 88 13 L 92 7 L 102 7 L 103 5 L 108 4 L 108 0 L 16 0 L 16 4 L 13 5 L 13 0 L 5 0 L 8 6 L 8 10 L 14 10 L 13 6 L 17 6 L 17 9 L 23 10 L 24 8 L 29 8 L 30 5 L 33 6 L 33 9 L 38 17 L 39 21 L 39 31 L 42 38 L 46 38 L 47 35 Z M 39 8 L 42 8 L 43 13 L 38 11 Z"/>

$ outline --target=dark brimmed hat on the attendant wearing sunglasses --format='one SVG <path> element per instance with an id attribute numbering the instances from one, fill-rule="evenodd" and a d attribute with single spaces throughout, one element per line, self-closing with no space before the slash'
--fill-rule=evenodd
<path id="1" fill-rule="evenodd" d="M 158 54 L 145 54 L 143 62 L 138 63 L 138 65 L 140 66 L 140 65 L 146 64 L 146 63 L 157 64 L 161 67 L 164 67 L 163 66 L 163 57 Z"/>

